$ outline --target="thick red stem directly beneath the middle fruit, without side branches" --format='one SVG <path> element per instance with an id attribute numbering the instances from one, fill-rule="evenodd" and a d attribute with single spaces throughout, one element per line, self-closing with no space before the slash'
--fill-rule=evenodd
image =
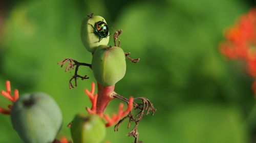
<path id="1" fill-rule="evenodd" d="M 99 82 L 98 85 L 98 100 L 97 100 L 97 108 L 96 113 L 102 115 L 106 106 L 108 106 L 109 102 L 114 99 L 111 95 L 114 93 L 115 85 L 111 86 L 103 86 Z"/>

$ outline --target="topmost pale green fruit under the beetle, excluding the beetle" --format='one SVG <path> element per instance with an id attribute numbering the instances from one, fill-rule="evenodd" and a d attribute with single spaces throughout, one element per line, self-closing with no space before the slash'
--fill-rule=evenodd
<path id="1" fill-rule="evenodd" d="M 82 20 L 80 36 L 83 46 L 86 47 L 89 52 L 93 53 L 99 45 L 108 45 L 109 43 L 109 36 L 99 41 L 99 36 L 95 34 L 93 30 L 95 23 L 102 20 L 106 23 L 106 20 L 101 16 L 93 16 L 92 18 L 85 17 Z"/>

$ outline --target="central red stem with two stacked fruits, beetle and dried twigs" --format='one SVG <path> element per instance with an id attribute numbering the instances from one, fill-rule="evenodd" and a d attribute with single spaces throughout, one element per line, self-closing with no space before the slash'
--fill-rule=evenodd
<path id="1" fill-rule="evenodd" d="M 92 83 L 92 90 L 89 92 L 85 90 L 87 95 L 89 96 L 92 107 L 87 108 L 87 111 L 93 115 L 99 115 L 99 117 L 104 118 L 106 121 L 105 126 L 109 127 L 114 124 L 115 131 L 118 130 L 119 125 L 122 121 L 126 118 L 129 118 L 129 122 L 135 122 L 135 127 L 129 133 L 129 136 L 135 137 L 135 143 L 138 142 L 138 122 L 142 119 L 144 110 L 147 110 L 147 114 L 149 111 L 152 111 L 152 115 L 156 111 L 153 104 L 150 100 L 140 97 L 140 98 L 133 98 L 130 97 L 126 99 L 120 95 L 118 95 L 114 89 L 115 84 L 121 80 L 126 72 L 126 61 L 125 58 L 130 60 L 133 63 L 139 62 L 140 59 L 132 59 L 130 58 L 130 52 L 125 53 L 123 49 L 120 47 L 120 40 L 117 39 L 121 34 L 121 30 L 118 30 L 114 33 L 114 46 L 109 46 L 109 27 L 106 23 L 105 19 L 101 16 L 93 16 L 93 14 L 88 15 L 88 17 L 84 18 L 81 25 L 81 41 L 86 47 L 86 49 L 92 53 L 92 63 L 79 63 L 73 59 L 65 59 L 62 62 L 58 63 L 61 67 L 67 63 L 66 71 L 74 69 L 75 73 L 70 79 L 69 85 L 70 88 L 74 88 L 71 81 L 75 80 L 75 86 L 77 85 L 77 78 L 87 79 L 87 76 L 80 76 L 77 74 L 79 66 L 88 66 L 93 70 L 95 79 L 97 80 L 97 88 L 98 93 L 94 94 L 95 91 L 95 84 Z M 74 64 L 73 64 L 74 63 Z M 120 99 L 127 103 L 127 109 L 123 111 L 123 104 L 121 103 L 119 106 L 119 111 L 117 114 L 113 114 L 111 117 L 108 114 L 103 114 L 106 106 L 108 106 L 109 102 L 113 99 Z M 136 103 L 134 100 L 140 100 L 142 102 Z M 132 109 L 139 109 L 138 115 L 134 116 L 132 114 Z M 129 123 L 130 127 L 130 123 Z M 74 134 L 77 136 L 77 134 Z M 72 134 L 73 136 L 73 134 Z M 82 136 L 73 137 L 81 139 Z M 74 142 L 79 142 L 78 140 L 74 140 Z"/>

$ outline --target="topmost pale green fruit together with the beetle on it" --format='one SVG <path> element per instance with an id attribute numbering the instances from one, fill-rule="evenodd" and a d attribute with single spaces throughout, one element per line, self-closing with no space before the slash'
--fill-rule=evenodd
<path id="1" fill-rule="evenodd" d="M 97 22 L 100 22 L 100 24 L 97 24 Z M 80 34 L 83 46 L 89 52 L 94 52 L 99 45 L 108 45 L 110 39 L 108 25 L 106 25 L 105 19 L 101 16 L 85 17 L 82 20 Z"/>

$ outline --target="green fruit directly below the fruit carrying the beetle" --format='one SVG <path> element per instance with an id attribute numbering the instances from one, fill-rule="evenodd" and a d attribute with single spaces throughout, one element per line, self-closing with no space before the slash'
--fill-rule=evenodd
<path id="1" fill-rule="evenodd" d="M 125 75 L 126 62 L 120 47 L 100 45 L 93 54 L 92 69 L 96 80 L 104 85 L 114 85 Z"/>

